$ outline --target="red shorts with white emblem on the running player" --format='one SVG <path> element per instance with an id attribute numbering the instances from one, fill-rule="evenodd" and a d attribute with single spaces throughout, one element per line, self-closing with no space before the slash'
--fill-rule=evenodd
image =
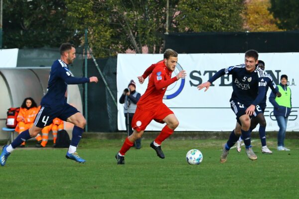
<path id="1" fill-rule="evenodd" d="M 169 114 L 173 114 L 173 112 L 164 103 L 153 110 L 144 110 L 137 106 L 131 125 L 132 128 L 140 132 L 145 130 L 153 119 L 156 122 L 164 123 L 163 119 Z"/>

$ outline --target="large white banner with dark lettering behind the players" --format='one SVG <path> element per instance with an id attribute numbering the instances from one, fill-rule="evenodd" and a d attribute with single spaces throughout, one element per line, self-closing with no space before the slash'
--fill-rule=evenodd
<path id="1" fill-rule="evenodd" d="M 260 53 L 259 59 L 265 62 L 265 71 L 276 84 L 280 76 L 288 75 L 292 90 L 292 112 L 289 116 L 287 131 L 299 131 L 299 53 Z M 130 80 L 136 82 L 136 91 L 143 95 L 148 86 L 148 78 L 139 84 L 137 77 L 153 63 L 163 59 L 162 54 L 118 54 L 117 59 L 117 100 L 118 129 L 126 130 L 124 104 L 119 99 Z M 208 91 L 198 91 L 197 86 L 206 82 L 220 69 L 244 63 L 244 53 L 228 54 L 179 54 L 174 77 L 185 70 L 187 77 L 168 86 L 163 103 L 176 115 L 179 125 L 176 131 L 231 131 L 236 124 L 236 116 L 230 108 L 232 76 L 222 76 Z M 270 96 L 271 89 L 267 93 Z M 273 115 L 273 105 L 267 99 L 265 110 L 266 131 L 278 131 L 279 126 Z M 152 121 L 146 130 L 160 131 L 165 124 Z M 255 131 L 258 130 L 258 127 Z"/>

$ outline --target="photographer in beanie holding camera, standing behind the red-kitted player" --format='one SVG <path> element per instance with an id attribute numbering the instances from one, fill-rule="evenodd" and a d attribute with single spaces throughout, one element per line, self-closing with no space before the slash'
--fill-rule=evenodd
<path id="1" fill-rule="evenodd" d="M 126 117 L 126 129 L 128 132 L 128 136 L 130 136 L 133 133 L 131 123 L 137 108 L 136 104 L 139 101 L 140 97 L 141 97 L 140 93 L 136 92 L 135 82 L 131 80 L 130 84 L 128 85 L 128 88 L 124 90 L 123 95 L 119 100 L 120 103 L 124 104 L 124 113 Z M 136 149 L 141 148 L 141 139 L 137 139 L 135 141 L 135 147 Z"/>

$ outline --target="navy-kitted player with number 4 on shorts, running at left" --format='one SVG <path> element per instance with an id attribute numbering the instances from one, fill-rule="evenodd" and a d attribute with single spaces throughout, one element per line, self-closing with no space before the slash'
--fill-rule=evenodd
<path id="1" fill-rule="evenodd" d="M 40 102 L 41 108 L 36 115 L 34 125 L 21 132 L 10 145 L 3 146 L 0 155 L 1 166 L 5 165 L 8 156 L 17 146 L 23 141 L 35 137 L 44 126 L 51 124 L 55 117 L 74 124 L 73 137 L 66 158 L 79 163 L 85 162 L 79 157 L 76 149 L 84 131 L 86 120 L 81 112 L 66 102 L 65 92 L 68 84 L 97 83 L 98 78 L 75 78 L 71 76 L 68 65 L 73 63 L 76 58 L 75 53 L 76 49 L 73 44 L 63 43 L 60 46 L 61 58 L 54 61 L 51 67 L 47 93 Z"/>

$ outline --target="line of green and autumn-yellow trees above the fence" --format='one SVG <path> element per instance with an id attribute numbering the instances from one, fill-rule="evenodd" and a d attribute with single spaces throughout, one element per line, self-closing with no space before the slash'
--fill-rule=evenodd
<path id="1" fill-rule="evenodd" d="M 298 0 L 3 0 L 2 45 L 78 46 L 87 29 L 96 57 L 159 53 L 171 32 L 297 30 L 298 8 Z"/>

